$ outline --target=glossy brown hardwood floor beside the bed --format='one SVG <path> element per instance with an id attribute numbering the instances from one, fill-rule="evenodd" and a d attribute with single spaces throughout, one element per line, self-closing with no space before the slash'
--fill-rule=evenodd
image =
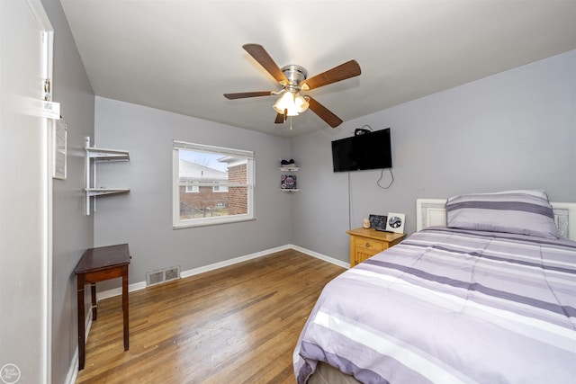
<path id="1" fill-rule="evenodd" d="M 98 303 L 76 383 L 294 383 L 293 350 L 320 291 L 345 270 L 286 250 Z"/>

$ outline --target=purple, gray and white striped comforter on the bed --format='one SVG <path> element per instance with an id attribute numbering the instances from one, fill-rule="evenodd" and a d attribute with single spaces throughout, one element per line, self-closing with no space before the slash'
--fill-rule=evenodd
<path id="1" fill-rule="evenodd" d="M 366 383 L 576 383 L 576 242 L 428 228 L 325 287 L 294 351 Z"/>

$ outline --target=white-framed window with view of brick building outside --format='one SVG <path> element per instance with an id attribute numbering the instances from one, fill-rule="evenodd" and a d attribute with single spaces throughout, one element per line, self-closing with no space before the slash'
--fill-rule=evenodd
<path id="1" fill-rule="evenodd" d="M 254 219 L 254 152 L 174 140 L 173 226 Z"/>

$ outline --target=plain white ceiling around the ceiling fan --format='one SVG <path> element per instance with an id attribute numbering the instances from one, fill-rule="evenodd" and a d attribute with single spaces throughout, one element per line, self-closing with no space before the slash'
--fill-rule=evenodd
<path id="1" fill-rule="evenodd" d="M 280 89 L 243 44 L 309 77 L 356 59 L 361 76 L 308 93 L 343 121 L 576 49 L 574 0 L 60 2 L 94 94 L 283 137 L 331 128 L 225 99 Z"/>

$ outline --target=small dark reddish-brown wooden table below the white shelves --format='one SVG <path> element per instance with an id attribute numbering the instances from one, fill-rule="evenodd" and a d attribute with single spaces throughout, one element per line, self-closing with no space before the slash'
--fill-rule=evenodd
<path id="1" fill-rule="evenodd" d="M 85 362 L 85 308 L 84 287 L 91 285 L 92 321 L 96 320 L 96 282 L 122 278 L 122 312 L 124 315 L 124 351 L 128 351 L 128 264 L 130 252 L 128 244 L 101 246 L 87 249 L 76 265 L 78 287 L 78 370 L 84 369 Z"/>

